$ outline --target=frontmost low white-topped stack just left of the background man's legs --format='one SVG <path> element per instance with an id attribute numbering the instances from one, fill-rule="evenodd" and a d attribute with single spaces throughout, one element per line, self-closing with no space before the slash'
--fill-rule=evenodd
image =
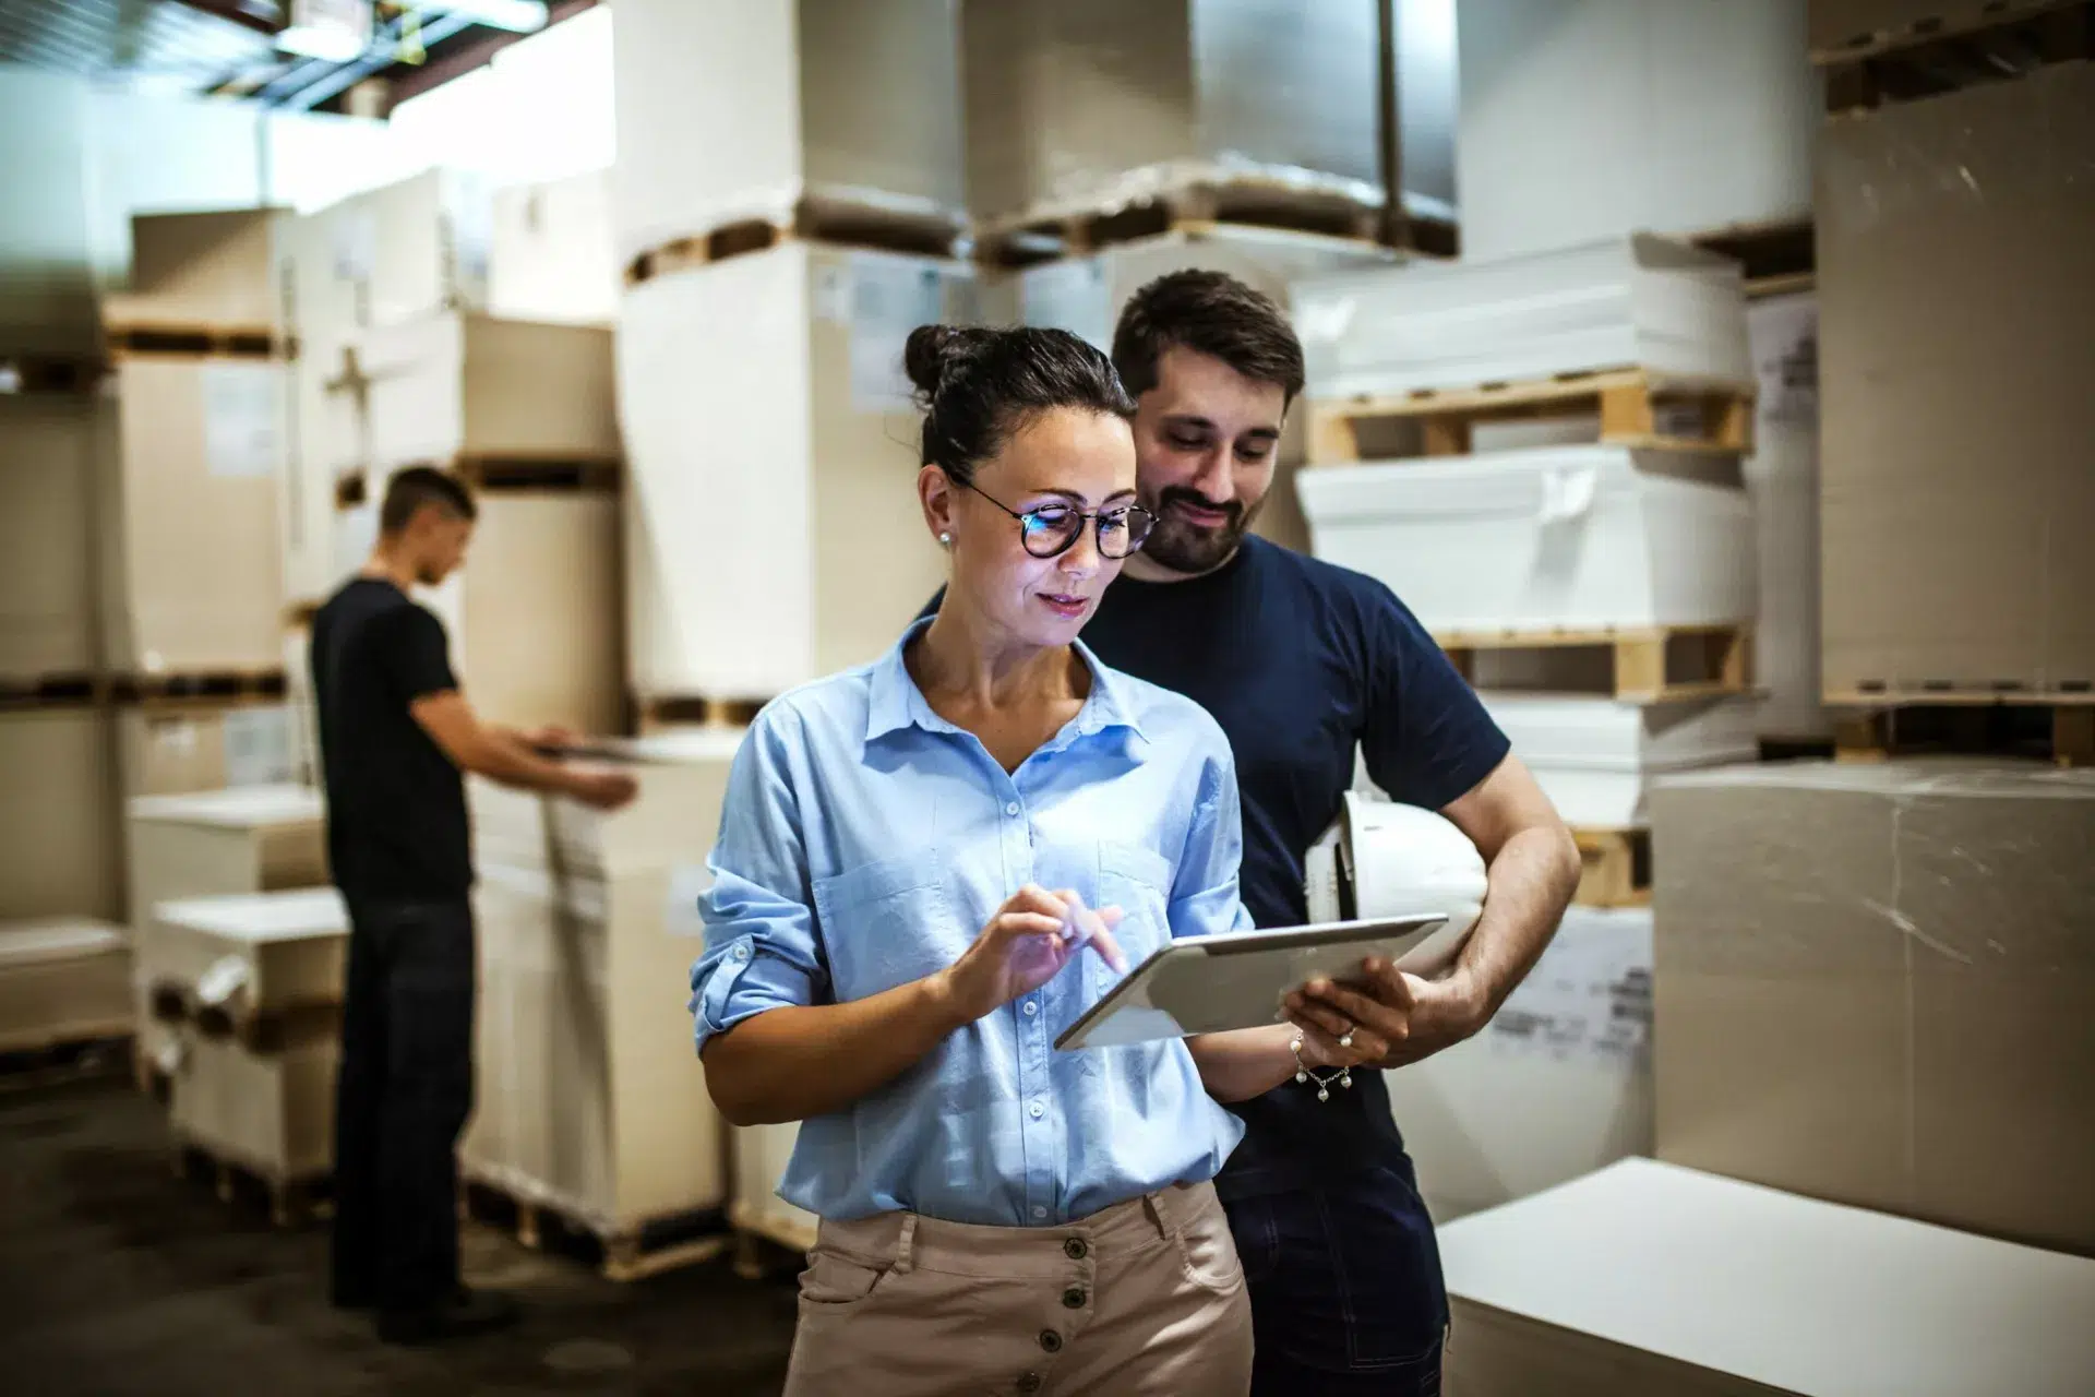
<path id="1" fill-rule="evenodd" d="M 272 1183 L 333 1167 L 348 911 L 333 888 L 159 903 L 176 1137 Z"/>

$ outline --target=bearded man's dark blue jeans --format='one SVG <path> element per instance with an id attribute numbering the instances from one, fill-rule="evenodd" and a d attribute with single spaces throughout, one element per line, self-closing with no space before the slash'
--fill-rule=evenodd
<path id="1" fill-rule="evenodd" d="M 1253 1397 L 1439 1397 L 1448 1290 L 1410 1160 L 1226 1206 L 1251 1282 Z"/>

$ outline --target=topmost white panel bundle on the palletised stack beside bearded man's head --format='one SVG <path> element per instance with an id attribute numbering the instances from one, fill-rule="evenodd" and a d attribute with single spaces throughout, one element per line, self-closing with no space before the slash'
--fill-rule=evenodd
<path id="1" fill-rule="evenodd" d="M 1309 394 L 1408 394 L 1592 369 L 1751 385 L 1739 264 L 1632 235 L 1293 287 Z"/>

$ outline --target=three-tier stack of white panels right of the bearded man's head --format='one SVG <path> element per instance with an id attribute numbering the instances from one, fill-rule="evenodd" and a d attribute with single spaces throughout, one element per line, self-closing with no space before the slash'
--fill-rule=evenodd
<path id="1" fill-rule="evenodd" d="M 1326 276 L 1297 285 L 1295 306 L 1311 434 L 1343 427 L 1330 463 L 1297 478 L 1318 557 L 1387 582 L 1473 653 L 1473 683 L 1571 823 L 1640 829 L 1651 773 L 1754 754 L 1743 674 L 1632 679 L 1611 649 L 1647 637 L 1663 662 L 1659 649 L 1714 633 L 1743 656 L 1754 624 L 1747 442 L 1710 431 L 1710 402 L 1735 417 L 1756 392 L 1737 264 L 1636 235 Z M 1626 392 L 1649 421 L 1617 421 L 1613 390 L 1554 408 L 1586 419 L 1548 417 L 1548 394 L 1596 375 L 1634 375 Z M 1494 419 L 1529 387 L 1540 423 Z M 1689 394 L 1691 425 L 1670 421 L 1672 392 Z M 1418 434 L 1441 402 L 1446 421 L 1397 431 Z M 1418 459 L 1420 442 L 1446 448 L 1435 434 L 1471 454 Z"/>

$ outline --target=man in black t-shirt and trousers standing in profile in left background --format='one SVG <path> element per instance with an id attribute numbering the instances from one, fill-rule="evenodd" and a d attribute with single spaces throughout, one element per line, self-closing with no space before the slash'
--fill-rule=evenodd
<path id="1" fill-rule="evenodd" d="M 473 501 L 427 467 L 392 478 L 365 568 L 312 618 L 327 855 L 350 909 L 335 1081 L 333 1301 L 417 1343 L 513 1317 L 459 1278 L 457 1141 L 473 1100 L 473 884 L 461 773 L 599 808 L 633 779 L 561 767 L 557 729 L 480 723 L 444 626 L 409 599 L 465 561 Z"/>

